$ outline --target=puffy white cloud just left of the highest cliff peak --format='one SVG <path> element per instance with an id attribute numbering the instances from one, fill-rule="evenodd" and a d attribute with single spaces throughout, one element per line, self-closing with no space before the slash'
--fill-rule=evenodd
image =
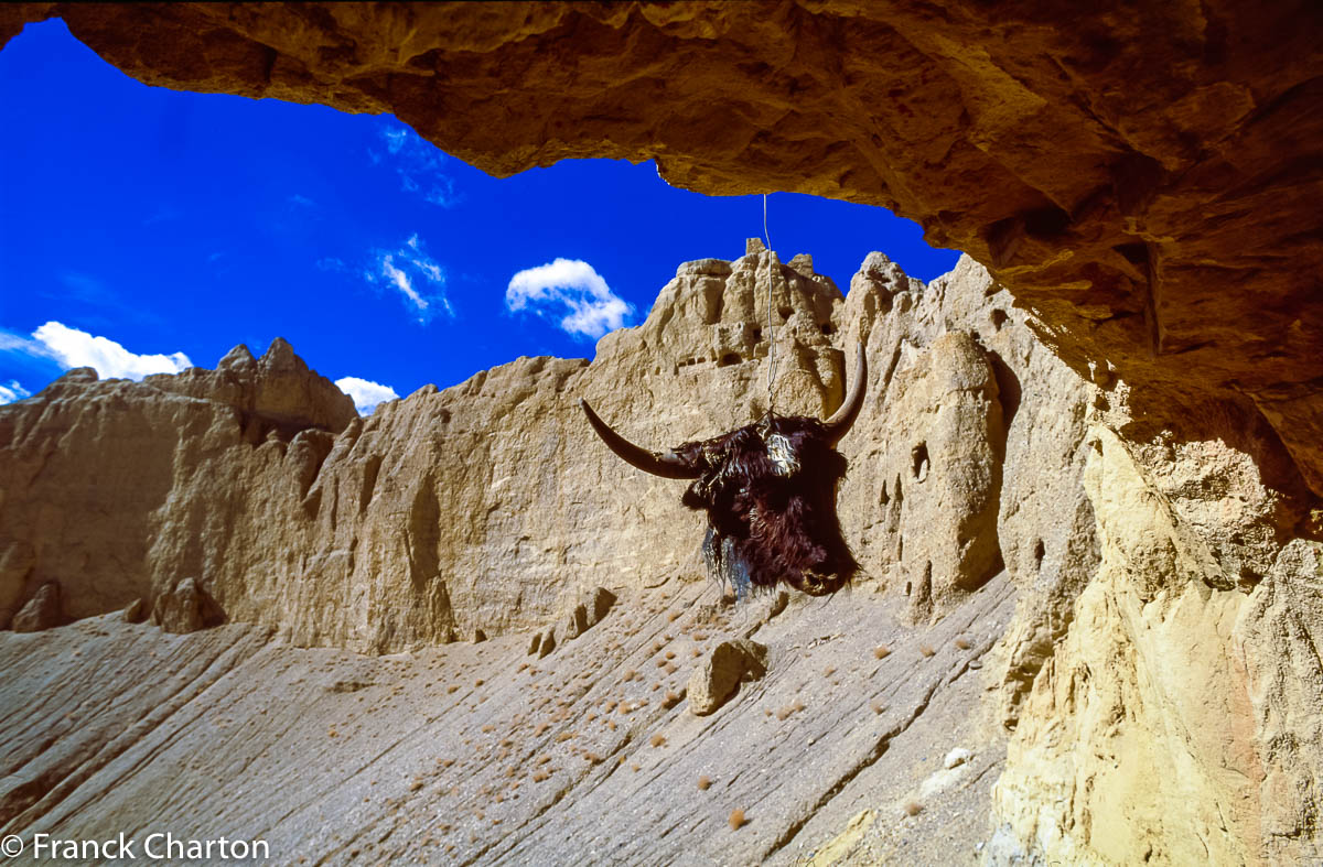
<path id="1" fill-rule="evenodd" d="M 624 325 L 634 307 L 611 292 L 593 266 L 582 259 L 557 259 L 520 271 L 505 288 L 505 309 L 532 309 L 542 317 L 558 316 L 572 337 L 597 338 Z"/>

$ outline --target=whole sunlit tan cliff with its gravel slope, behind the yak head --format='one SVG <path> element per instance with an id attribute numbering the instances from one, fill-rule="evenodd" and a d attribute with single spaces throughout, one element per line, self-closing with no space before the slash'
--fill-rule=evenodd
<path id="1" fill-rule="evenodd" d="M 7 702 L 44 710 L 11 719 L 0 821 L 101 833 L 149 806 L 201 834 L 225 814 L 332 860 L 417 855 L 422 838 L 515 862 L 587 839 L 640 860 L 1308 856 L 1323 756 L 1308 492 L 1262 420 L 1211 404 L 1199 424 L 1217 439 L 1151 431 L 1125 381 L 1078 375 L 1043 332 L 968 259 L 923 285 L 873 254 L 843 299 L 808 256 L 781 263 L 750 242 L 680 266 L 591 363 L 520 359 L 347 424 L 343 395 L 283 344 L 142 385 L 66 375 L 0 410 L 11 608 L 54 582 L 66 617 L 143 597 L 187 630 L 208 622 L 201 591 L 255 628 L 167 638 L 105 613 L 7 636 L 20 675 Z M 619 463 L 576 399 L 646 445 L 712 435 L 766 406 L 773 336 L 781 411 L 830 412 L 841 348 L 868 349 L 839 497 L 864 570 L 826 607 L 729 609 L 680 482 Z M 619 601 L 569 626 L 593 587 Z M 478 629 L 492 640 L 438 649 Z M 542 658 L 516 671 L 533 630 Z M 767 674 L 699 723 L 685 685 L 721 634 L 769 646 Z M 155 646 L 176 660 L 160 689 L 118 710 L 32 693 L 52 671 L 140 679 L 110 661 Z M 254 678 L 277 685 L 243 686 Z M 161 700 L 200 711 L 99 734 Z M 40 748 L 49 724 L 56 749 Z M 189 761 L 177 751 L 232 726 L 235 764 L 161 790 Z M 159 753 L 161 737 L 179 745 Z M 390 759 L 368 759 L 378 739 Z M 954 747 L 974 763 L 921 761 Z M 347 763 L 360 769 L 341 780 Z M 262 774 L 295 781 L 307 805 L 274 825 L 257 819 L 261 798 L 234 811 L 226 793 Z M 681 793 L 703 774 L 722 797 L 696 806 Z M 325 818 L 307 813 L 341 789 Z M 622 806 L 640 802 L 652 808 Z M 754 817 L 738 834 L 721 830 L 734 808 Z M 975 831 L 942 835 L 968 814 Z"/>

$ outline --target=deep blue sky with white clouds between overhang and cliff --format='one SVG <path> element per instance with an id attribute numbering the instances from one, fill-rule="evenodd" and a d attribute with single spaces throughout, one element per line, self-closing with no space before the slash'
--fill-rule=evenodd
<path id="1" fill-rule="evenodd" d="M 213 367 L 287 338 L 404 396 L 519 356 L 591 357 L 691 259 L 734 259 L 762 198 L 651 163 L 490 177 L 389 115 L 147 87 L 58 20 L 0 52 L 0 403 L 70 366 Z M 771 241 L 845 291 L 871 250 L 923 280 L 958 254 L 861 205 L 775 193 Z M 369 407 L 373 391 L 352 385 Z"/>

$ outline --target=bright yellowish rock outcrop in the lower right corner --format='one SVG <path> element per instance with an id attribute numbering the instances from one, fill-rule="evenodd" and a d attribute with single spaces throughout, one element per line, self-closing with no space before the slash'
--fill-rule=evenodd
<path id="1" fill-rule="evenodd" d="M 1307 856 L 1323 730 L 1304 707 L 1320 697 L 1310 648 L 1323 611 L 1299 567 L 1318 546 L 1293 542 L 1248 592 L 1228 584 L 1135 447 L 1101 427 L 1091 437 L 1102 562 L 1023 708 L 996 819 L 1068 860 Z"/>

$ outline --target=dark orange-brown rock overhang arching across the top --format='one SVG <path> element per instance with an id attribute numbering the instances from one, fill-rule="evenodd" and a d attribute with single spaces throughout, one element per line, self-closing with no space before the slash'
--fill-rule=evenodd
<path id="1" fill-rule="evenodd" d="M 49 16 L 149 85 L 393 112 L 495 174 L 889 207 L 1143 414 L 1238 395 L 1323 494 L 1315 3 L 24 4 L 0 38 Z"/>

